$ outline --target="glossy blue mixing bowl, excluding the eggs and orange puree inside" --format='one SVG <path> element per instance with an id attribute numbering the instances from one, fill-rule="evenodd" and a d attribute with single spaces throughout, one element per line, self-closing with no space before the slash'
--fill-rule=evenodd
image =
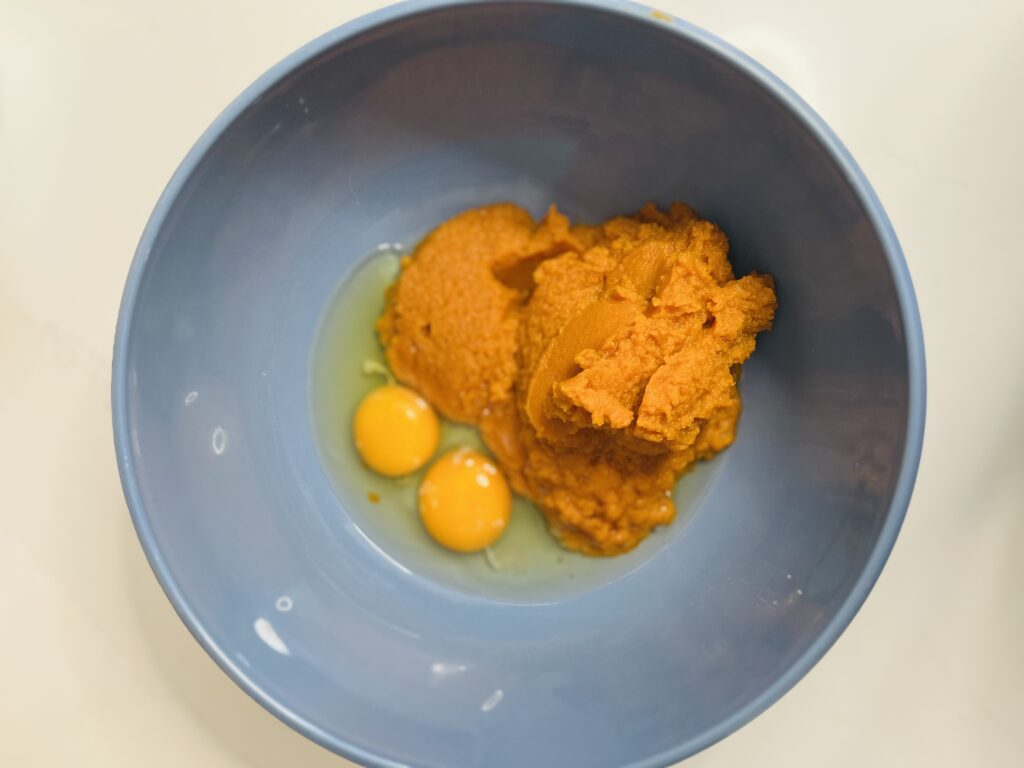
<path id="1" fill-rule="evenodd" d="M 587 220 L 687 201 L 778 283 L 689 518 L 550 599 L 386 556 L 310 415 L 357 260 L 499 200 Z M 416 0 L 289 56 L 188 154 L 128 278 L 113 407 L 157 577 L 286 723 L 380 766 L 655 766 L 768 707 L 853 617 L 910 497 L 925 362 L 863 174 L 750 58 L 638 5 Z"/>

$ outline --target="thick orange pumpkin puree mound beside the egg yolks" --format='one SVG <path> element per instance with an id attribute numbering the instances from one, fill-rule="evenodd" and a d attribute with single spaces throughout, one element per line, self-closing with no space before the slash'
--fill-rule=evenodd
<path id="1" fill-rule="evenodd" d="M 679 203 L 600 226 L 485 206 L 404 261 L 378 332 L 398 380 L 479 427 L 565 547 L 617 555 L 735 438 L 739 367 L 776 300 L 728 249 Z"/>

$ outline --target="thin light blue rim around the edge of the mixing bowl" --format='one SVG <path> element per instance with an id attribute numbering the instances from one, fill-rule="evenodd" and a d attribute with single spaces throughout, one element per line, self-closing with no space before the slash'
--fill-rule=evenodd
<path id="1" fill-rule="evenodd" d="M 505 1 L 499 0 L 495 4 L 504 4 Z M 900 307 L 900 318 L 906 343 L 908 372 L 907 422 L 903 456 L 888 514 L 879 531 L 879 539 L 871 550 L 863 571 L 858 577 L 846 600 L 840 606 L 839 611 L 824 627 L 820 635 L 800 656 L 791 663 L 788 669 L 768 688 L 744 707 L 696 736 L 662 753 L 640 759 L 624 767 L 656 768 L 657 766 L 671 765 L 684 760 L 720 741 L 781 698 L 783 694 L 793 688 L 821 659 L 840 635 L 842 635 L 878 581 L 882 568 L 896 543 L 896 538 L 906 515 L 921 461 L 927 399 L 925 344 L 921 315 L 913 291 L 913 284 L 910 280 L 910 273 L 896 232 L 863 171 L 861 171 L 836 133 L 825 124 L 824 120 L 790 86 L 769 72 L 764 66 L 758 63 L 751 56 L 726 43 L 724 40 L 689 22 L 677 18 L 653 7 L 631 2 L 630 0 L 507 0 L 507 2 L 508 4 L 528 3 L 582 8 L 648 25 L 662 32 L 677 35 L 726 65 L 738 70 L 740 74 L 749 78 L 767 95 L 773 97 L 783 109 L 790 112 L 814 136 L 843 173 L 847 182 L 859 199 L 882 245 Z M 407 2 L 389 5 L 358 16 L 314 38 L 271 67 L 253 82 L 252 85 L 246 88 L 203 132 L 181 161 L 181 164 L 175 170 L 164 191 L 161 194 L 146 222 L 128 271 L 115 333 L 111 410 L 118 471 L 138 540 L 145 552 L 150 566 L 153 568 L 160 586 L 166 593 L 174 610 L 196 640 L 199 641 L 200 645 L 203 646 L 221 670 L 270 714 L 322 746 L 345 758 L 357 761 L 360 764 L 378 766 L 379 768 L 408 768 L 408 766 L 375 755 L 355 744 L 348 743 L 344 739 L 309 722 L 289 709 L 287 705 L 276 700 L 270 693 L 250 678 L 213 641 L 206 627 L 203 626 L 188 605 L 180 587 L 175 581 L 174 574 L 171 572 L 167 561 L 157 546 L 153 528 L 143 509 L 142 497 L 135 475 L 132 455 L 131 419 L 127 407 L 127 394 L 131 388 L 128 375 L 128 348 L 130 345 L 131 325 L 150 253 L 175 200 L 206 154 L 227 127 L 245 110 L 299 67 L 346 40 L 401 18 L 442 9 L 484 4 L 489 4 L 488 0 L 408 0 Z"/>

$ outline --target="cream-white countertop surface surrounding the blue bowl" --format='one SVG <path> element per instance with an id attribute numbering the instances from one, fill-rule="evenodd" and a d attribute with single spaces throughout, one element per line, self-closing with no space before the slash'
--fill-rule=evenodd
<path id="1" fill-rule="evenodd" d="M 0 0 L 0 764 L 346 763 L 177 621 L 121 495 L 128 264 L 230 99 L 373 1 Z M 849 631 L 687 768 L 1024 765 L 1024 4 L 663 2 L 788 81 L 906 251 L 929 413 L 906 524 Z"/>

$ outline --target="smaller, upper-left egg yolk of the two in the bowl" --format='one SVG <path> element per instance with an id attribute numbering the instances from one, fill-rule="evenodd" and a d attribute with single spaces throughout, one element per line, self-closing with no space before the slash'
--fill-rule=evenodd
<path id="1" fill-rule="evenodd" d="M 352 422 L 355 450 L 370 469 L 389 477 L 415 472 L 440 437 L 437 415 L 412 389 L 389 384 L 362 398 Z"/>

